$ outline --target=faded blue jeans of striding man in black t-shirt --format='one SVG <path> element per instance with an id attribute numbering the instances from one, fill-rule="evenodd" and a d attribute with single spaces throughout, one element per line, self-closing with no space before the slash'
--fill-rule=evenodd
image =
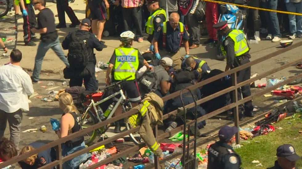
<path id="1" fill-rule="evenodd" d="M 45 56 L 45 53 L 48 51 L 48 49 L 52 49 L 55 51 L 55 53 L 58 55 L 58 57 L 64 62 L 64 64 L 69 67 L 69 63 L 67 61 L 67 57 L 65 57 L 62 47 L 61 47 L 61 43 L 59 41 L 59 37 L 57 37 L 57 39 L 53 42 L 50 43 L 46 43 L 43 41 L 40 41 L 39 46 L 38 46 L 38 50 L 37 50 L 37 54 L 35 57 L 35 67 L 34 67 L 34 71 L 32 74 L 32 79 L 34 81 L 39 81 L 39 75 L 41 72 L 41 68 L 42 68 L 42 62 Z"/>

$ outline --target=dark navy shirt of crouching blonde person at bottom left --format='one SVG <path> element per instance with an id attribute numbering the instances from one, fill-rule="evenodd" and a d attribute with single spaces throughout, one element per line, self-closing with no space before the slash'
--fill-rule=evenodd
<path id="1" fill-rule="evenodd" d="M 37 149 L 39 147 L 42 147 L 45 144 L 46 143 L 34 142 L 34 143 L 30 143 L 29 145 L 34 147 L 35 149 Z M 37 157 L 37 159 L 35 159 L 35 163 L 33 165 L 29 165 L 27 163 L 24 163 L 23 161 L 19 162 L 19 164 L 22 169 L 35 169 L 35 168 L 45 166 L 46 164 L 51 163 L 55 159 L 56 159 L 55 150 L 53 148 L 49 148 L 38 154 L 38 157 Z"/>

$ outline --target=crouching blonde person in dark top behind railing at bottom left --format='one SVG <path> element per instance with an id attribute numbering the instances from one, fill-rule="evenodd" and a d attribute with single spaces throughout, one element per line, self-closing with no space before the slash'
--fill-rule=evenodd
<path id="1" fill-rule="evenodd" d="M 25 154 L 29 151 L 33 151 L 36 148 L 42 147 L 45 144 L 46 143 L 40 142 L 30 143 L 28 146 L 22 148 L 20 155 Z M 26 159 L 19 161 L 18 163 L 22 169 L 36 169 L 45 166 L 46 164 L 51 163 L 52 161 L 55 161 L 55 159 L 55 148 L 52 147 L 45 151 L 41 151 L 38 154 L 31 155 L 30 157 L 27 157 Z"/>

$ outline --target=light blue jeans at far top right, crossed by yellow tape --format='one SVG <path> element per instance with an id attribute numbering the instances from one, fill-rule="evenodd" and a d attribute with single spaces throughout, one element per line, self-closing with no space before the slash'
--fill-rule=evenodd
<path id="1" fill-rule="evenodd" d="M 288 2 L 286 4 L 286 9 L 289 12 L 302 13 L 302 2 L 293 3 Z M 296 19 L 297 17 L 297 19 Z M 296 33 L 298 35 L 302 34 L 302 16 L 299 15 L 288 15 L 289 19 L 289 30 L 291 33 Z"/>

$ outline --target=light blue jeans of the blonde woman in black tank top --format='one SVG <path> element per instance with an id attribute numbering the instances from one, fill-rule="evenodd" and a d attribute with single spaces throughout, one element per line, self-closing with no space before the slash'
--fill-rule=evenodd
<path id="1" fill-rule="evenodd" d="M 69 147 L 66 147 L 66 145 L 63 143 L 62 144 L 62 155 L 63 157 L 67 156 L 67 155 L 70 155 L 76 151 L 80 151 L 82 149 L 85 148 L 85 143 L 83 141 L 83 143 L 81 143 L 80 146 L 78 147 L 72 147 L 72 148 L 69 148 Z M 79 165 L 81 163 L 83 163 L 84 161 L 86 161 L 89 157 L 91 157 L 91 154 L 90 153 L 84 153 L 82 155 L 79 155 L 71 160 L 68 160 L 66 161 L 65 163 L 63 163 L 63 168 L 64 169 L 75 169 L 75 168 L 78 168 Z"/>

